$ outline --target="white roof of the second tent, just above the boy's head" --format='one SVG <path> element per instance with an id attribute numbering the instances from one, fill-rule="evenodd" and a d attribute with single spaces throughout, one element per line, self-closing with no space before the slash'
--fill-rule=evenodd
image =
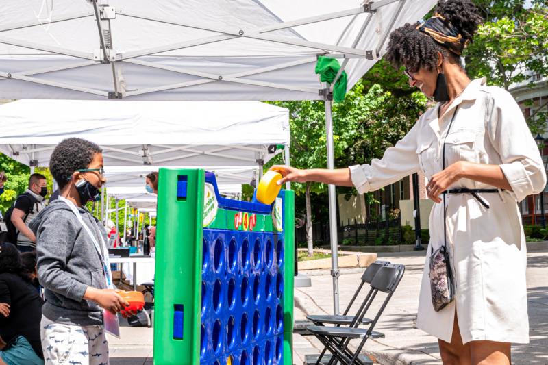
<path id="1" fill-rule="evenodd" d="M 0 151 L 29 166 L 69 137 L 99 144 L 105 166 L 141 169 L 257 165 L 290 138 L 288 110 L 258 101 L 19 100 L 0 106 L 0 130 Z"/>

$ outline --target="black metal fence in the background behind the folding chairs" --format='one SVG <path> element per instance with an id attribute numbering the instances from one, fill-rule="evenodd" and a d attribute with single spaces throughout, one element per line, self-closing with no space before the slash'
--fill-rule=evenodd
<path id="1" fill-rule="evenodd" d="M 306 242 L 306 226 L 295 229 L 297 242 Z M 387 221 L 369 221 L 365 224 L 348 224 L 337 228 L 339 244 L 386 245 L 399 244 L 402 238 L 399 218 Z M 329 223 L 312 223 L 315 245 L 329 244 Z"/>

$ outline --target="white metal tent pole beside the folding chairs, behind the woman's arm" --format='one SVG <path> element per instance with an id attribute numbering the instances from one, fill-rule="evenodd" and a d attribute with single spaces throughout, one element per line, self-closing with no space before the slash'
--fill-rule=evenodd
<path id="1" fill-rule="evenodd" d="M 327 168 L 335 168 L 335 153 L 333 147 L 333 115 L 332 100 L 325 98 L 325 132 L 327 134 Z M 337 247 L 337 206 L 335 186 L 329 184 L 329 238 L 331 239 L 331 276 L 333 277 L 333 312 L 339 314 L 338 307 L 338 247 Z"/>

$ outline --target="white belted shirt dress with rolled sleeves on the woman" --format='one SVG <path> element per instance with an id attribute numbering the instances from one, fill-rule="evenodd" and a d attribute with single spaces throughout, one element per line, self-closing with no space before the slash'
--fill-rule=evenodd
<path id="1" fill-rule="evenodd" d="M 457 108 L 458 107 L 458 108 Z M 419 294 L 417 327 L 451 342 L 457 311 L 464 343 L 475 340 L 529 342 L 525 236 L 516 202 L 542 192 L 546 173 L 538 147 L 510 93 L 476 79 L 440 120 L 439 104 L 425 112 L 395 147 L 371 164 L 351 166 L 351 179 L 364 193 L 417 171 L 429 179 L 457 161 L 499 165 L 512 191 L 480 193 L 486 209 L 471 194 L 447 194 L 447 244 L 455 273 L 456 300 L 435 312 L 428 277 L 429 254 L 443 244 L 443 201 L 430 212 L 430 242 Z M 451 188 L 495 187 L 460 179 Z"/>

